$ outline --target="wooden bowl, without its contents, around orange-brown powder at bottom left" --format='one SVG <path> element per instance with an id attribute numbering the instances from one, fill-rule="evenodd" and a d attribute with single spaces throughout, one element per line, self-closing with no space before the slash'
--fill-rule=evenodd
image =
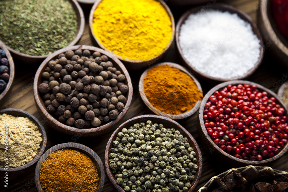
<path id="1" fill-rule="evenodd" d="M 74 143 L 74 142 L 69 142 L 69 143 L 61 143 L 58 145 L 55 145 L 48 149 L 39 159 L 36 169 L 35 169 L 35 184 L 38 192 L 43 192 L 43 189 L 40 184 L 40 168 L 43 164 L 43 162 L 47 159 L 47 157 L 53 153 L 54 151 L 60 150 L 60 149 L 75 149 L 77 151 L 80 151 L 82 153 L 85 153 L 92 159 L 92 161 L 95 163 L 96 168 L 98 170 L 98 176 L 99 176 L 99 185 L 97 186 L 97 189 L 95 192 L 101 192 L 104 186 L 105 182 L 105 173 L 104 173 L 104 166 L 103 163 L 100 159 L 100 157 L 95 153 L 92 149 L 89 147 L 79 144 L 79 143 Z M 81 175 L 79 175 L 81 176 Z"/>

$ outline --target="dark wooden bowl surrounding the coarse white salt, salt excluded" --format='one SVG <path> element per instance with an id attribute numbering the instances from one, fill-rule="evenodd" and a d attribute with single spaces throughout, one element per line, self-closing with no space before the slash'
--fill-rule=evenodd
<path id="1" fill-rule="evenodd" d="M 218 77 L 212 77 L 209 75 L 206 75 L 204 73 L 202 73 L 201 71 L 199 71 L 196 67 L 192 66 L 192 64 L 190 64 L 190 62 L 184 57 L 183 51 L 181 49 L 180 43 L 179 43 L 179 35 L 180 35 L 180 29 L 182 24 L 185 22 L 185 20 L 187 19 L 187 17 L 190 14 L 194 14 L 197 13 L 199 11 L 202 12 L 202 10 L 204 10 L 204 12 L 206 12 L 206 10 L 203 8 L 203 6 L 199 6 L 199 7 L 195 7 L 192 9 L 189 9 L 188 11 L 186 11 L 181 18 L 179 19 L 177 26 L 176 26 L 176 44 L 177 44 L 177 50 L 178 50 L 178 54 L 180 56 L 181 62 L 188 68 L 191 69 L 193 71 L 193 73 L 195 73 L 196 76 L 211 82 L 211 80 L 217 82 L 223 82 L 223 81 L 231 81 L 231 80 L 237 80 L 237 79 L 245 79 L 247 77 L 249 77 L 252 73 L 254 73 L 256 71 L 256 69 L 259 67 L 259 65 L 261 64 L 262 60 L 263 60 L 263 40 L 261 37 L 261 34 L 257 28 L 257 25 L 255 24 L 255 22 L 253 21 L 253 19 L 247 15 L 246 13 L 242 12 L 239 9 L 236 9 L 235 7 L 232 7 L 230 5 L 226 5 L 224 3 L 215 3 L 212 4 L 209 7 L 209 10 L 220 10 L 220 11 L 228 11 L 231 14 L 236 13 L 241 19 L 245 20 L 246 22 L 250 23 L 252 26 L 252 30 L 254 32 L 255 35 L 257 35 L 258 39 L 260 40 L 260 56 L 258 61 L 255 63 L 255 66 L 250 69 L 246 74 L 242 75 L 242 76 L 238 76 L 238 77 L 233 77 L 233 78 L 218 78 Z"/>

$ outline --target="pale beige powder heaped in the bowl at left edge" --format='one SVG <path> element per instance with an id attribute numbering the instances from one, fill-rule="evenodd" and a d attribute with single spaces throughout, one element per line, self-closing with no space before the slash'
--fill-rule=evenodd
<path id="1" fill-rule="evenodd" d="M 8 168 L 20 167 L 37 156 L 43 141 L 37 125 L 28 117 L 14 117 L 3 113 L 0 115 L 0 155 L 9 154 Z M 7 150 L 8 144 L 8 153 Z M 4 167 L 4 158 L 0 167 Z M 7 165 L 6 165 L 7 166 Z"/>

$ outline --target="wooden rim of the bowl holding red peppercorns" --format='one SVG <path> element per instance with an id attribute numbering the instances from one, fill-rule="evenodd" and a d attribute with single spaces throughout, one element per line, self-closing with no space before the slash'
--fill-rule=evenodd
<path id="1" fill-rule="evenodd" d="M 238 85 L 238 84 L 247 84 L 247 85 L 256 85 L 257 89 L 261 90 L 261 91 L 266 91 L 270 96 L 273 96 L 274 98 L 276 98 L 276 101 L 282 105 L 281 107 L 283 107 L 285 109 L 285 115 L 288 117 L 288 109 L 287 106 L 284 104 L 284 102 L 279 99 L 278 95 L 276 95 L 274 92 L 272 92 L 271 90 L 269 90 L 268 88 L 259 85 L 258 83 L 254 83 L 252 81 L 244 81 L 244 80 L 234 80 L 234 81 L 227 81 L 227 82 L 223 82 L 220 83 L 218 85 L 216 85 L 215 87 L 213 87 L 211 90 L 209 90 L 209 92 L 206 93 L 206 95 L 204 96 L 200 109 L 199 109 L 199 115 L 198 115 L 198 119 L 199 119 L 199 126 L 200 126 L 200 130 L 206 140 L 208 140 L 208 142 L 210 142 L 213 147 L 221 154 L 224 155 L 226 157 L 228 157 L 229 159 L 231 159 L 232 161 L 236 161 L 237 163 L 241 163 L 241 164 L 248 164 L 248 165 L 261 165 L 261 164 L 267 164 L 271 161 L 274 161 L 276 159 L 278 159 L 279 157 L 282 157 L 287 151 L 288 151 L 288 142 L 286 143 L 286 145 L 283 147 L 283 149 L 281 151 L 279 151 L 279 153 L 277 155 L 274 155 L 273 157 L 270 157 L 269 159 L 264 159 L 261 161 L 250 161 L 250 160 L 244 160 L 244 159 L 239 159 L 237 157 L 234 157 L 228 153 L 226 153 L 225 151 L 223 151 L 220 147 L 218 147 L 213 140 L 210 138 L 210 136 L 208 135 L 206 128 L 204 127 L 204 119 L 203 119 L 203 112 L 204 112 L 204 105 L 206 104 L 206 102 L 208 101 L 209 97 L 215 93 L 215 91 L 221 90 L 222 88 L 228 86 L 228 85 Z"/>

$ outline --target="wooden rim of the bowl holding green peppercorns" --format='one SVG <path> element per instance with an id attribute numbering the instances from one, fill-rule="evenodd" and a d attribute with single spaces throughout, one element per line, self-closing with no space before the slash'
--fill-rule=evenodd
<path id="1" fill-rule="evenodd" d="M 201 173 L 202 173 L 202 154 L 201 154 L 201 151 L 200 151 L 200 148 L 198 146 L 198 143 L 196 142 L 196 140 L 194 139 L 194 137 L 184 128 L 182 127 L 179 123 L 177 123 L 176 121 L 174 121 L 173 119 L 169 119 L 167 117 L 163 117 L 163 116 L 158 116 L 158 115 L 140 115 L 140 116 L 137 116 L 137 117 L 133 117 L 132 119 L 129 119 L 127 121 L 125 121 L 124 123 L 122 123 L 114 132 L 113 134 L 111 135 L 111 137 L 109 138 L 109 141 L 107 142 L 107 145 L 106 145 L 106 148 L 105 148 L 105 153 L 104 153 L 104 166 L 105 166 L 105 173 L 106 173 L 106 176 L 107 176 L 107 179 L 110 183 L 110 185 L 114 188 L 117 187 L 118 191 L 120 192 L 125 192 L 122 187 L 120 187 L 117 183 L 116 183 L 116 179 L 114 177 L 114 175 L 111 173 L 110 171 L 110 168 L 109 168 L 109 165 L 108 165 L 108 161 L 109 161 L 109 148 L 111 148 L 112 146 L 112 139 L 113 137 L 116 136 L 116 134 L 118 134 L 118 132 L 120 130 L 122 130 L 123 128 L 126 127 L 126 124 L 129 124 L 131 121 L 135 121 L 135 120 L 140 120 L 142 122 L 145 122 L 149 119 L 161 119 L 161 120 L 164 120 L 164 121 L 167 121 L 167 123 L 172 123 L 175 125 L 175 129 L 177 130 L 181 130 L 180 133 L 183 134 L 185 133 L 187 135 L 187 137 L 189 137 L 191 139 L 191 142 L 194 144 L 195 148 L 194 151 L 198 154 L 198 170 L 195 174 L 195 179 L 193 180 L 193 185 L 191 185 L 191 188 L 188 190 L 188 192 L 192 192 L 197 184 L 199 183 L 199 180 L 200 180 L 200 177 L 201 177 Z M 196 177 L 197 175 L 197 177 Z M 113 178 L 113 179 L 112 179 Z"/>

